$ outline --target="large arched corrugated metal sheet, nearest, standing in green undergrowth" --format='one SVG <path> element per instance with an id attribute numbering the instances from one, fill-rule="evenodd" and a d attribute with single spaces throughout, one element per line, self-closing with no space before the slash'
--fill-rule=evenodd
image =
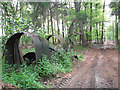
<path id="1" fill-rule="evenodd" d="M 42 58 L 42 54 L 46 54 L 48 57 L 50 57 L 49 44 L 45 38 L 34 36 L 27 32 L 20 32 L 11 36 L 5 45 L 5 61 L 8 61 L 8 64 L 22 64 L 23 56 L 19 49 L 19 39 L 23 34 L 31 37 L 31 40 L 33 41 L 36 63 Z"/>

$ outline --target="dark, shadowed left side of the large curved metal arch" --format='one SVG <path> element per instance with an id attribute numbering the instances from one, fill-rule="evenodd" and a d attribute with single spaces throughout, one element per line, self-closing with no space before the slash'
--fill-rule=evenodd
<path id="1" fill-rule="evenodd" d="M 8 64 L 15 64 L 18 63 L 21 64 L 21 58 L 18 50 L 18 47 L 15 45 L 15 43 L 17 44 L 18 42 L 16 42 L 16 40 L 19 40 L 20 37 L 23 35 L 24 33 L 16 33 L 13 36 L 11 36 L 6 45 L 5 45 L 5 61 L 8 61 Z M 17 54 L 17 56 L 16 56 Z M 15 60 L 17 60 L 18 62 L 16 62 Z"/>

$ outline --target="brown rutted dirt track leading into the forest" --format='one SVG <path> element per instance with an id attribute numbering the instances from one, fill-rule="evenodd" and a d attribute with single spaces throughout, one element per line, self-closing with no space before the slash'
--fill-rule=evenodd
<path id="1" fill-rule="evenodd" d="M 112 42 L 91 46 L 73 72 L 56 79 L 52 88 L 118 88 L 118 50 Z"/>

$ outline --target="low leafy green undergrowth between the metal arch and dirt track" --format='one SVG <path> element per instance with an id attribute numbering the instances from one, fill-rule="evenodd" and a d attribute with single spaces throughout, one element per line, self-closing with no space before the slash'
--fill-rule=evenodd
<path id="1" fill-rule="evenodd" d="M 61 50 L 54 52 L 50 60 L 43 55 L 37 65 L 29 66 L 24 63 L 20 66 L 2 63 L 2 81 L 22 88 L 48 87 L 43 85 L 41 80 L 55 77 L 57 73 L 71 72 L 72 62 L 75 61 L 73 55 L 76 54 L 73 50 Z M 78 58 L 81 60 L 82 54 L 78 55 Z"/>

